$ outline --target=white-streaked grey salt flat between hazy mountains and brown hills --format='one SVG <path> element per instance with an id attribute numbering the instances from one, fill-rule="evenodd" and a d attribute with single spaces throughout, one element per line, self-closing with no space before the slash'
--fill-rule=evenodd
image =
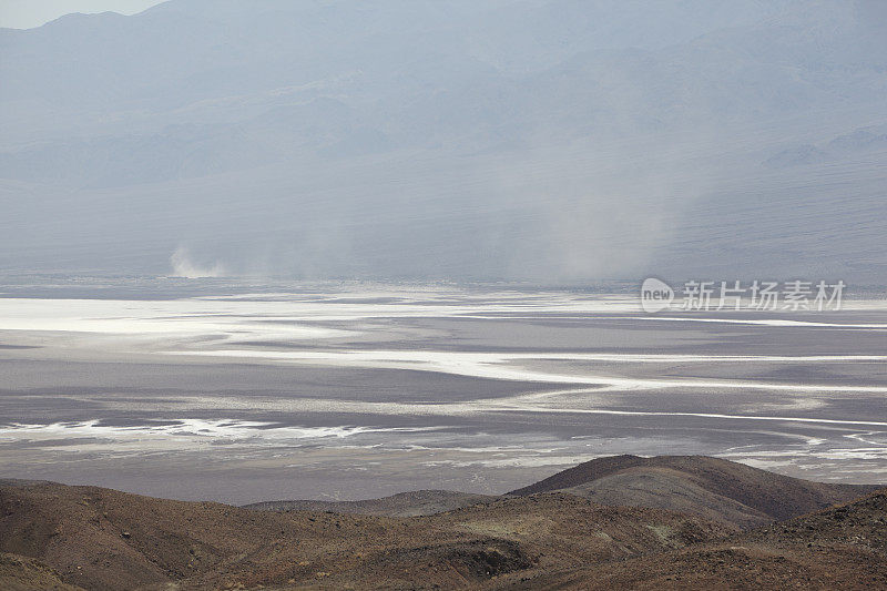
<path id="1" fill-rule="evenodd" d="M 625 292 L 187 285 L 0 298 L 4 477 L 353 499 L 705 454 L 887 480 L 879 299 L 651 316 Z"/>

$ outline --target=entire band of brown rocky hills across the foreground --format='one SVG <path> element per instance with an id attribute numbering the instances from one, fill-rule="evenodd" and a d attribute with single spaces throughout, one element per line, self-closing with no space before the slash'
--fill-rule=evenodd
<path id="1" fill-rule="evenodd" d="M 887 588 L 887 491 L 870 489 L 633 456 L 502 497 L 314 510 L 2 481 L 0 589 Z"/>

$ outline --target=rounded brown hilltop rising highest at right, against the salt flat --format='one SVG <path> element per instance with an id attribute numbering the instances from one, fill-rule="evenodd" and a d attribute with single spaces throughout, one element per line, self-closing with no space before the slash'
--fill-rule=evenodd
<path id="1" fill-rule="evenodd" d="M 581 463 L 510 495 L 569 492 L 602 505 L 670 509 L 747 529 L 876 488 L 810 482 L 702 456 L 614 456 Z"/>

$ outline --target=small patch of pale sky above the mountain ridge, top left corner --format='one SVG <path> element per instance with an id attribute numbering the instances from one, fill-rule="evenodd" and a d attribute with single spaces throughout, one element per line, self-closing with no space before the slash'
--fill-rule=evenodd
<path id="1" fill-rule="evenodd" d="M 0 27 L 30 29 L 71 12 L 134 14 L 163 0 L 2 0 Z"/>

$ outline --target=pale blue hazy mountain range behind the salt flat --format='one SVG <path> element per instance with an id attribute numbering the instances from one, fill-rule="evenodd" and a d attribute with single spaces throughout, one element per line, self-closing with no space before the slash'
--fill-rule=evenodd
<path id="1" fill-rule="evenodd" d="M 802 208 L 876 282 L 884 228 L 849 232 L 883 207 L 883 152 L 792 150 L 885 123 L 885 31 L 863 0 L 173 0 L 3 30 L 0 177 L 27 188 L 0 203 L 34 231 L 0 227 L 0 269 L 164 273 L 185 246 L 308 277 L 681 276 L 736 248 L 842 272 L 794 249 Z M 778 235 L 712 249 L 710 207 Z"/>

